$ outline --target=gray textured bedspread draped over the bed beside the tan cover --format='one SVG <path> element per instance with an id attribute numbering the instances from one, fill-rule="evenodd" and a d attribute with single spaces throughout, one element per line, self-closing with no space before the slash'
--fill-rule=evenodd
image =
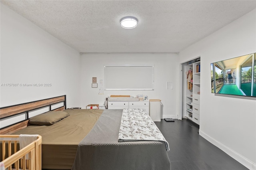
<path id="1" fill-rule="evenodd" d="M 162 141 L 118 142 L 120 110 L 104 110 L 80 142 L 72 170 L 170 170 Z"/>

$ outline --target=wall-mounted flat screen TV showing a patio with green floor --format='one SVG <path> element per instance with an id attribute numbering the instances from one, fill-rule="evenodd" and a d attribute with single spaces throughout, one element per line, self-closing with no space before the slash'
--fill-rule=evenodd
<path id="1" fill-rule="evenodd" d="M 256 53 L 211 63 L 212 93 L 256 97 Z"/>

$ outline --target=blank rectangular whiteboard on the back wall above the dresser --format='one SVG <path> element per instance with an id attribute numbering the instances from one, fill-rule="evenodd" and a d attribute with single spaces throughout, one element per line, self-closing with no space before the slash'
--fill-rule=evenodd
<path id="1" fill-rule="evenodd" d="M 154 90 L 154 65 L 104 65 L 104 90 Z"/>

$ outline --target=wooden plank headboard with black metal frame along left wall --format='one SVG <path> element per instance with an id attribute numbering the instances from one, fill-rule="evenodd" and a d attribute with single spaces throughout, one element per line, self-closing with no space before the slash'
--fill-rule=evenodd
<path id="1" fill-rule="evenodd" d="M 63 106 L 52 109 L 53 105 L 62 104 Z M 24 119 L 8 125 L 6 127 L 0 128 L 0 134 L 12 134 L 22 128 L 25 128 L 29 125 L 29 113 L 32 111 L 36 111 L 42 108 L 49 108 L 49 111 L 63 111 L 66 109 L 66 95 L 52 97 L 49 99 L 42 99 L 38 101 L 32 101 L 28 103 L 22 103 L 18 105 L 12 105 L 8 107 L 1 107 L 0 108 L 0 120 L 4 119 L 11 119 L 12 117 L 16 117 L 18 115 L 25 115 Z"/>

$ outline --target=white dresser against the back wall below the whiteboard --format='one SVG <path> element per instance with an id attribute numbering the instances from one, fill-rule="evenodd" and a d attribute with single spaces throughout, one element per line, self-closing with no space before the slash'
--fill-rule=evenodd
<path id="1" fill-rule="evenodd" d="M 149 101 L 108 101 L 108 109 L 145 109 L 149 114 Z"/>

